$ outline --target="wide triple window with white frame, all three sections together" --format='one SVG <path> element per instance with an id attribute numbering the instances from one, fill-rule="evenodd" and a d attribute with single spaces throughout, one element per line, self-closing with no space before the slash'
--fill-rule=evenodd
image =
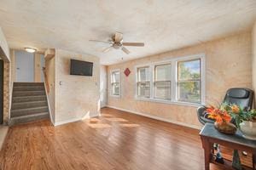
<path id="1" fill-rule="evenodd" d="M 182 105 L 204 104 L 204 63 L 204 54 L 196 54 L 136 67 L 136 98 Z"/>

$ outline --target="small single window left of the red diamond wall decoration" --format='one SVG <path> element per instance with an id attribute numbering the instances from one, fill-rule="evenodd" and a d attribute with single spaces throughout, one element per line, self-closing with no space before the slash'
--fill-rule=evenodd
<path id="1" fill-rule="evenodd" d="M 120 95 L 120 71 L 112 71 L 111 73 L 111 94 Z"/>

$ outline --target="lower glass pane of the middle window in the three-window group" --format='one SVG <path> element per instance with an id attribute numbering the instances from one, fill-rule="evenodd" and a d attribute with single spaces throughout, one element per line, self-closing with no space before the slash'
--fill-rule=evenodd
<path id="1" fill-rule="evenodd" d="M 154 82 L 155 99 L 171 99 L 171 81 Z"/>

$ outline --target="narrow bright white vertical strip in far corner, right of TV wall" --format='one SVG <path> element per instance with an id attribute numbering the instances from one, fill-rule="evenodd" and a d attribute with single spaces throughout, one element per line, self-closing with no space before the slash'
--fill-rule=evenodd
<path id="1" fill-rule="evenodd" d="M 101 65 L 100 72 L 100 99 L 102 108 L 107 105 L 107 66 Z"/>

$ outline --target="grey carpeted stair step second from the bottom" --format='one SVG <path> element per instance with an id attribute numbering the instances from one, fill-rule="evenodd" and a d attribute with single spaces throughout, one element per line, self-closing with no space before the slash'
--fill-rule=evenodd
<path id="1" fill-rule="evenodd" d="M 48 112 L 48 106 L 42 106 L 42 107 L 32 107 L 32 108 L 26 108 L 26 109 L 16 109 L 11 110 L 11 117 L 15 116 L 26 116 L 26 115 L 32 115 L 35 113 L 42 113 L 42 112 Z"/>

